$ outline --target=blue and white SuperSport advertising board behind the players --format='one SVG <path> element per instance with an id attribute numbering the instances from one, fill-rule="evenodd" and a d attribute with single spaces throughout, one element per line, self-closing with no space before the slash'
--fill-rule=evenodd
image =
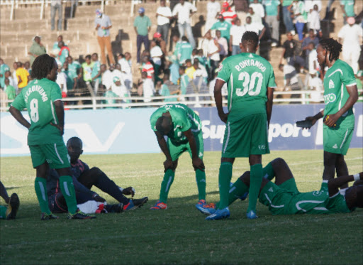
<path id="1" fill-rule="evenodd" d="M 323 104 L 276 105 L 269 128 L 269 146 L 274 150 L 323 148 L 323 121 L 310 130 L 296 127 L 295 122 L 313 116 Z M 220 151 L 225 125 L 215 107 L 194 108 L 203 125 L 204 148 Z M 69 110 L 65 114 L 67 141 L 78 136 L 84 142 L 84 153 L 157 153 L 160 148 L 152 129 L 150 115 L 155 108 Z M 23 112 L 28 119 L 28 113 Z M 351 148 L 363 148 L 363 103 L 354 105 L 355 128 Z M 29 156 L 27 130 L 11 114 L 1 113 L 1 156 Z"/>

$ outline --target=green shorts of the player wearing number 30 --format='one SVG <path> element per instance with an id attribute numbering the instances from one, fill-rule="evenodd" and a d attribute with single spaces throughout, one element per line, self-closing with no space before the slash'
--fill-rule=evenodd
<path id="1" fill-rule="evenodd" d="M 222 157 L 249 157 L 265 153 L 269 153 L 267 114 L 253 114 L 238 121 L 227 121 Z"/>

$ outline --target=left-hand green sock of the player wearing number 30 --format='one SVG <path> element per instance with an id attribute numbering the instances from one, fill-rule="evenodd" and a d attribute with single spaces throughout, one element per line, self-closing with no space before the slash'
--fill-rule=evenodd
<path id="1" fill-rule="evenodd" d="M 232 178 L 232 163 L 230 162 L 222 162 L 219 168 L 219 207 L 218 209 L 222 210 L 225 207 L 228 207 L 228 197 L 230 190 L 230 179 Z"/>

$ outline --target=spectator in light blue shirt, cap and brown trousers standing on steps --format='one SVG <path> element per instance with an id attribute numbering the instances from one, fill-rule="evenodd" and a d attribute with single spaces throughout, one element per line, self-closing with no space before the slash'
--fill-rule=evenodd
<path id="1" fill-rule="evenodd" d="M 135 33 L 138 34 L 136 38 L 136 46 L 138 48 L 137 53 L 137 61 L 140 63 L 140 51 L 141 51 L 141 44 L 144 43 L 145 50 L 149 50 L 150 42 L 149 42 L 149 32 L 151 28 L 151 21 L 148 16 L 145 16 L 145 9 L 140 7 L 138 10 L 139 16 L 135 18 L 133 22 L 133 27 L 135 29 Z"/>

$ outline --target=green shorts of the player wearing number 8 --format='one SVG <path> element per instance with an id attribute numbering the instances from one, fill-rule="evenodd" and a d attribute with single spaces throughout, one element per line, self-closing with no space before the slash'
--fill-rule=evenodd
<path id="1" fill-rule="evenodd" d="M 69 168 L 68 150 L 64 141 L 54 144 L 38 144 L 29 146 L 33 168 L 47 162 L 50 168 Z"/>

